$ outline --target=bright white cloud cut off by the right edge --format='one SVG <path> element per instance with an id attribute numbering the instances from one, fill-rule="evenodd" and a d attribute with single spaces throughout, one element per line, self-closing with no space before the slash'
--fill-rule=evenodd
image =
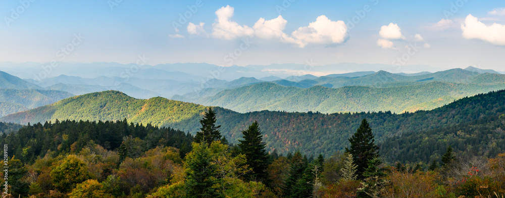
<path id="1" fill-rule="evenodd" d="M 505 25 L 493 23 L 490 26 L 480 22 L 477 17 L 468 15 L 465 23 L 461 24 L 463 37 L 479 39 L 495 45 L 505 45 Z"/>

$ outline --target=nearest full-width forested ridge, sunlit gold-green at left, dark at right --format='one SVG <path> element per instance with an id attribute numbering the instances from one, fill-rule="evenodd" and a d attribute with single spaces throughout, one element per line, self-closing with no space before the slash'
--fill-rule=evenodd
<path id="1" fill-rule="evenodd" d="M 34 123 L 64 120 L 122 120 L 170 126 L 195 133 L 201 115 L 206 107 L 191 103 L 171 101 L 161 97 L 137 100 L 118 91 L 89 93 L 67 98 L 25 112 L 1 118 L 4 122 Z M 505 91 L 465 97 L 449 105 L 431 111 L 393 114 L 378 113 L 287 113 L 280 111 L 260 111 L 240 114 L 223 108 L 215 108 L 222 134 L 236 143 L 241 130 L 257 120 L 267 143 L 267 149 L 282 154 L 300 150 L 308 155 L 324 153 L 331 155 L 342 151 L 349 138 L 358 128 L 362 119 L 369 120 L 375 137 L 381 145 L 381 155 L 389 161 L 425 161 L 444 152 L 451 145 L 463 154 L 492 157 L 492 151 L 505 151 Z M 486 125 L 486 122 L 492 125 Z M 468 124 L 479 124 L 474 130 Z M 470 125 L 474 126 L 474 125 Z M 484 127 L 485 126 L 485 127 Z M 457 130 L 456 130 L 457 129 Z M 442 131 L 442 132 L 440 132 Z M 462 131 L 468 135 L 456 135 Z M 463 133 L 461 133 L 463 134 Z M 429 138 L 441 135 L 443 141 L 423 142 L 421 139 L 402 139 L 405 135 L 420 135 Z M 456 136 L 455 136 L 456 135 Z M 463 139 L 455 141 L 455 138 Z M 419 141 L 418 141 L 419 140 Z M 447 141 L 445 141 L 447 140 Z M 398 141 L 415 141 L 415 144 L 396 144 Z M 396 142 L 385 144 L 383 142 Z M 467 142 L 459 144 L 458 142 Z M 398 157 L 422 146 L 430 147 L 429 152 L 413 156 Z M 472 145 L 469 149 L 468 145 Z M 387 149 L 386 149 L 387 148 Z"/>

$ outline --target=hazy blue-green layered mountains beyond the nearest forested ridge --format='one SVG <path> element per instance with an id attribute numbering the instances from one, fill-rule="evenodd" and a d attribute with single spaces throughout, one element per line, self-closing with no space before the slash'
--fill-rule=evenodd
<path id="1" fill-rule="evenodd" d="M 0 63 L 20 73 L 37 71 L 35 63 Z M 16 64 L 14 64 L 16 65 Z M 220 106 L 236 112 L 362 112 L 393 113 L 431 110 L 454 100 L 478 93 L 505 88 L 505 75 L 475 67 L 439 72 L 390 73 L 367 71 L 386 65 L 336 64 L 314 66 L 317 71 L 331 71 L 352 66 L 364 72 L 299 76 L 283 73 L 288 68 L 309 68 L 307 65 L 274 64 L 269 66 L 219 67 L 210 64 L 122 65 L 118 63 L 68 64 L 55 68 L 45 78 L 21 79 L 0 73 L 0 98 L 4 107 L 0 116 L 25 111 L 92 92 L 118 90 L 140 99 L 165 97 L 205 106 Z M 86 67 L 84 69 L 84 67 Z M 275 72 L 272 68 L 276 68 Z M 407 68 L 414 68 L 409 66 Z M 40 68 L 38 68 L 40 69 Z M 217 70 L 213 70 L 217 69 Z M 423 69 L 433 70 L 430 67 Z M 100 72 L 96 72 L 100 70 Z M 286 70 L 287 71 L 287 70 Z M 204 72 L 204 73 L 202 73 Z M 205 77 L 208 72 L 208 77 Z M 16 73 L 16 72 L 15 72 Z M 55 76 L 59 73 L 58 76 Z M 97 73 L 102 75 L 96 76 Z M 242 73 L 233 80 L 226 75 Z M 258 75 L 261 73 L 261 75 Z M 282 72 L 281 72 L 282 73 Z M 74 75 L 72 75 L 74 74 Z M 253 75 L 257 75 L 252 77 Z M 22 75 L 23 76 L 23 75 Z M 261 76 L 265 76 L 260 78 Z M 258 77 L 258 78 L 256 78 Z M 221 79 L 216 79 L 221 78 Z M 8 98 L 6 94 L 12 94 Z M 19 95 L 25 95 L 20 98 Z"/>

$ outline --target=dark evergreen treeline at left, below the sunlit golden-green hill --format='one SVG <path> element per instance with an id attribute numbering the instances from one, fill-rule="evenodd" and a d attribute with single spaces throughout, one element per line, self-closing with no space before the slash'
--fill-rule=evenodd
<path id="1" fill-rule="evenodd" d="M 3 127 L 5 123 L 0 124 Z M 97 144 L 106 150 L 117 150 L 121 144 L 135 141 L 137 156 L 157 146 L 172 146 L 180 149 L 183 157 L 191 150 L 193 136 L 172 128 L 159 128 L 147 124 L 123 121 L 58 121 L 37 123 L 22 127 L 15 133 L 3 133 L 0 142 L 9 145 L 9 155 L 24 163 L 33 163 L 47 154 L 81 151 L 90 144 Z"/>

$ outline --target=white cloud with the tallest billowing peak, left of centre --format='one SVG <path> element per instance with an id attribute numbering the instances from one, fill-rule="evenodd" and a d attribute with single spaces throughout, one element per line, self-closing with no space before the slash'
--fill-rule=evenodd
<path id="1" fill-rule="evenodd" d="M 212 35 L 216 38 L 233 40 L 242 36 L 250 36 L 254 34 L 254 30 L 246 25 L 240 26 L 237 22 L 231 21 L 234 8 L 227 5 L 216 11 L 217 22 L 212 24 Z"/>

